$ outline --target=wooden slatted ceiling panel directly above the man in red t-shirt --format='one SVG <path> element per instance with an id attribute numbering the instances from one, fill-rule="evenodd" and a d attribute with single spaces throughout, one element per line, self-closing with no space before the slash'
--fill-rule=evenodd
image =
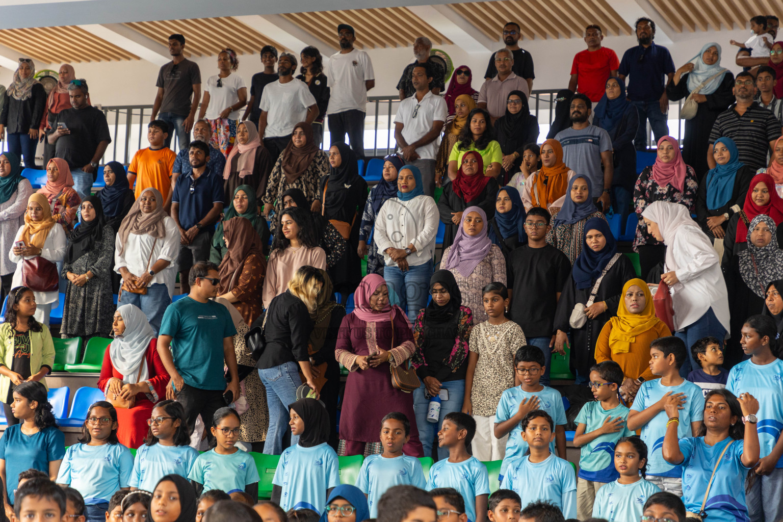
<path id="1" fill-rule="evenodd" d="M 583 38 L 590 23 L 600 25 L 606 35 L 631 34 L 631 27 L 606 0 L 500 0 L 449 4 L 449 7 L 493 41 L 500 41 L 503 23 L 508 20 L 516 20 L 522 38 L 528 40 Z"/>

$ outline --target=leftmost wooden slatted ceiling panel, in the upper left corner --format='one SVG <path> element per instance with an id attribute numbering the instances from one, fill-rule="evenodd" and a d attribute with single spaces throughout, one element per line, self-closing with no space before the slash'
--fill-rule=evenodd
<path id="1" fill-rule="evenodd" d="M 0 30 L 0 42 L 40 64 L 139 59 L 131 52 L 81 27 L 32 27 Z"/>

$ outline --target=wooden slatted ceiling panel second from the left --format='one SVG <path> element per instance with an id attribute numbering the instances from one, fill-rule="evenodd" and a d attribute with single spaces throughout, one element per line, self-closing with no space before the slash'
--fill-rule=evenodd
<path id="1" fill-rule="evenodd" d="M 283 49 L 276 41 L 231 16 L 129 22 L 124 25 L 163 45 L 168 45 L 169 34 L 184 34 L 186 56 L 217 56 L 218 52 L 226 47 L 233 49 L 236 54 L 255 54 L 264 45 Z"/>

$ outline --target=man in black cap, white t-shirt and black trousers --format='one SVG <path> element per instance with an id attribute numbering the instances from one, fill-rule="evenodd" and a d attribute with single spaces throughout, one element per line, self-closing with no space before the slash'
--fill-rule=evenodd
<path id="1" fill-rule="evenodd" d="M 331 144 L 345 143 L 345 133 L 356 157 L 364 157 L 364 117 L 367 91 L 375 87 L 375 73 L 370 56 L 353 48 L 356 33 L 348 23 L 337 26 L 340 51 L 330 56 L 326 70 L 331 89 L 329 99 L 329 132 Z"/>

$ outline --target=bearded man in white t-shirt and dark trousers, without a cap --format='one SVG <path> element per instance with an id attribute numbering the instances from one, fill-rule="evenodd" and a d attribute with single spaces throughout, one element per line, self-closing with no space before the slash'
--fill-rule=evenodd
<path id="1" fill-rule="evenodd" d="M 258 135 L 264 138 L 272 164 L 290 142 L 294 125 L 312 123 L 318 117 L 318 104 L 304 81 L 294 78 L 296 56 L 283 52 L 277 59 L 277 81 L 264 88 Z"/>

